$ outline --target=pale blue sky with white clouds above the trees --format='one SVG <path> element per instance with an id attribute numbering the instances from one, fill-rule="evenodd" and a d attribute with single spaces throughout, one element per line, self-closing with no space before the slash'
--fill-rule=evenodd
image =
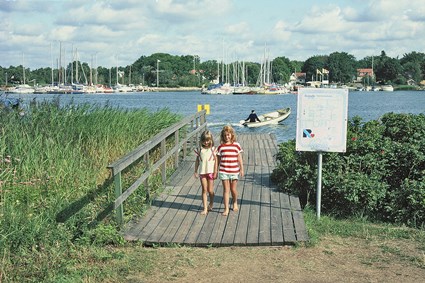
<path id="1" fill-rule="evenodd" d="M 0 0 L 0 66 L 425 52 L 424 0 Z M 199 57 L 197 57 L 199 56 Z M 197 59 L 198 60 L 198 59 Z"/>

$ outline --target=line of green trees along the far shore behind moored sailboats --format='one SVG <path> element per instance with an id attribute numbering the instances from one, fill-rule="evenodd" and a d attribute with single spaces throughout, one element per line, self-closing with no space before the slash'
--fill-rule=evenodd
<path id="1" fill-rule="evenodd" d="M 357 60 L 346 52 L 333 52 L 329 55 L 315 55 L 306 61 L 290 60 L 284 56 L 270 62 L 271 81 L 285 84 L 291 74 L 306 74 L 306 81 L 317 79 L 317 70 L 329 71 L 330 83 L 348 84 L 357 77 L 357 69 L 373 68 L 374 77 L 363 78 L 366 83 L 405 85 L 408 81 L 419 84 L 425 75 L 425 53 L 410 52 L 402 58 L 391 58 L 381 51 L 379 55 Z M 45 67 L 30 70 L 22 65 L 0 66 L 0 85 L 28 83 L 49 85 L 57 83 L 82 84 L 142 84 L 163 87 L 193 87 L 207 85 L 211 81 L 243 83 L 250 86 L 259 82 L 259 74 L 264 68 L 258 62 L 230 62 L 217 60 L 201 62 L 197 55 L 170 55 L 154 53 L 141 56 L 133 64 L 125 67 L 91 68 L 86 62 L 74 61 L 61 69 Z M 79 70 L 79 71 L 77 71 Z M 78 73 L 78 75 L 76 75 Z"/>

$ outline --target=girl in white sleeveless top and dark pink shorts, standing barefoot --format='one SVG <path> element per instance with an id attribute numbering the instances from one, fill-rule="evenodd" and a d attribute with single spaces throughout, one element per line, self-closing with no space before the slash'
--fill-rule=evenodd
<path id="1" fill-rule="evenodd" d="M 205 130 L 201 134 L 199 149 L 195 150 L 195 177 L 200 178 L 202 186 L 202 215 L 211 211 L 214 204 L 214 180 L 217 178 L 217 156 L 212 133 Z M 208 195 L 210 203 L 207 205 Z"/>

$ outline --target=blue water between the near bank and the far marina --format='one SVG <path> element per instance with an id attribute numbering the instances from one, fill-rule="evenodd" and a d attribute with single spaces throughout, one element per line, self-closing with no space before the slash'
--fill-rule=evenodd
<path id="1" fill-rule="evenodd" d="M 38 101 L 51 100 L 55 94 L 21 94 L 9 97 L 21 98 L 24 104 L 34 97 Z M 211 114 L 207 116 L 209 128 L 214 133 L 220 132 L 226 124 L 234 126 L 237 133 L 274 133 L 278 142 L 295 138 L 297 117 L 297 96 L 285 95 L 201 95 L 199 92 L 143 92 L 119 94 L 74 94 L 59 96 L 65 104 L 71 99 L 74 103 L 110 103 L 120 108 L 148 108 L 156 111 L 168 108 L 171 112 L 192 115 L 199 104 L 209 104 Z M 245 128 L 239 121 L 246 119 L 252 109 L 258 114 L 275 109 L 291 107 L 292 114 L 279 125 L 260 128 Z M 348 99 L 348 116 L 360 116 L 364 121 L 378 119 L 381 115 L 394 113 L 425 113 L 425 91 L 394 92 L 350 92 Z"/>

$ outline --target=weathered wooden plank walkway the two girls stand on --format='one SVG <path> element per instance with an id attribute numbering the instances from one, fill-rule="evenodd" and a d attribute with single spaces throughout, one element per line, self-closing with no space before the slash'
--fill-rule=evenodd
<path id="1" fill-rule="evenodd" d="M 279 192 L 270 184 L 278 150 L 275 137 L 243 134 L 237 138 L 244 150 L 245 167 L 245 177 L 238 183 L 238 212 L 221 214 L 223 189 L 216 180 L 213 211 L 200 215 L 202 189 L 193 176 L 192 154 L 173 174 L 167 193 L 153 202 L 143 218 L 126 225 L 125 238 L 146 245 L 193 246 L 272 246 L 307 241 L 298 197 Z"/>

